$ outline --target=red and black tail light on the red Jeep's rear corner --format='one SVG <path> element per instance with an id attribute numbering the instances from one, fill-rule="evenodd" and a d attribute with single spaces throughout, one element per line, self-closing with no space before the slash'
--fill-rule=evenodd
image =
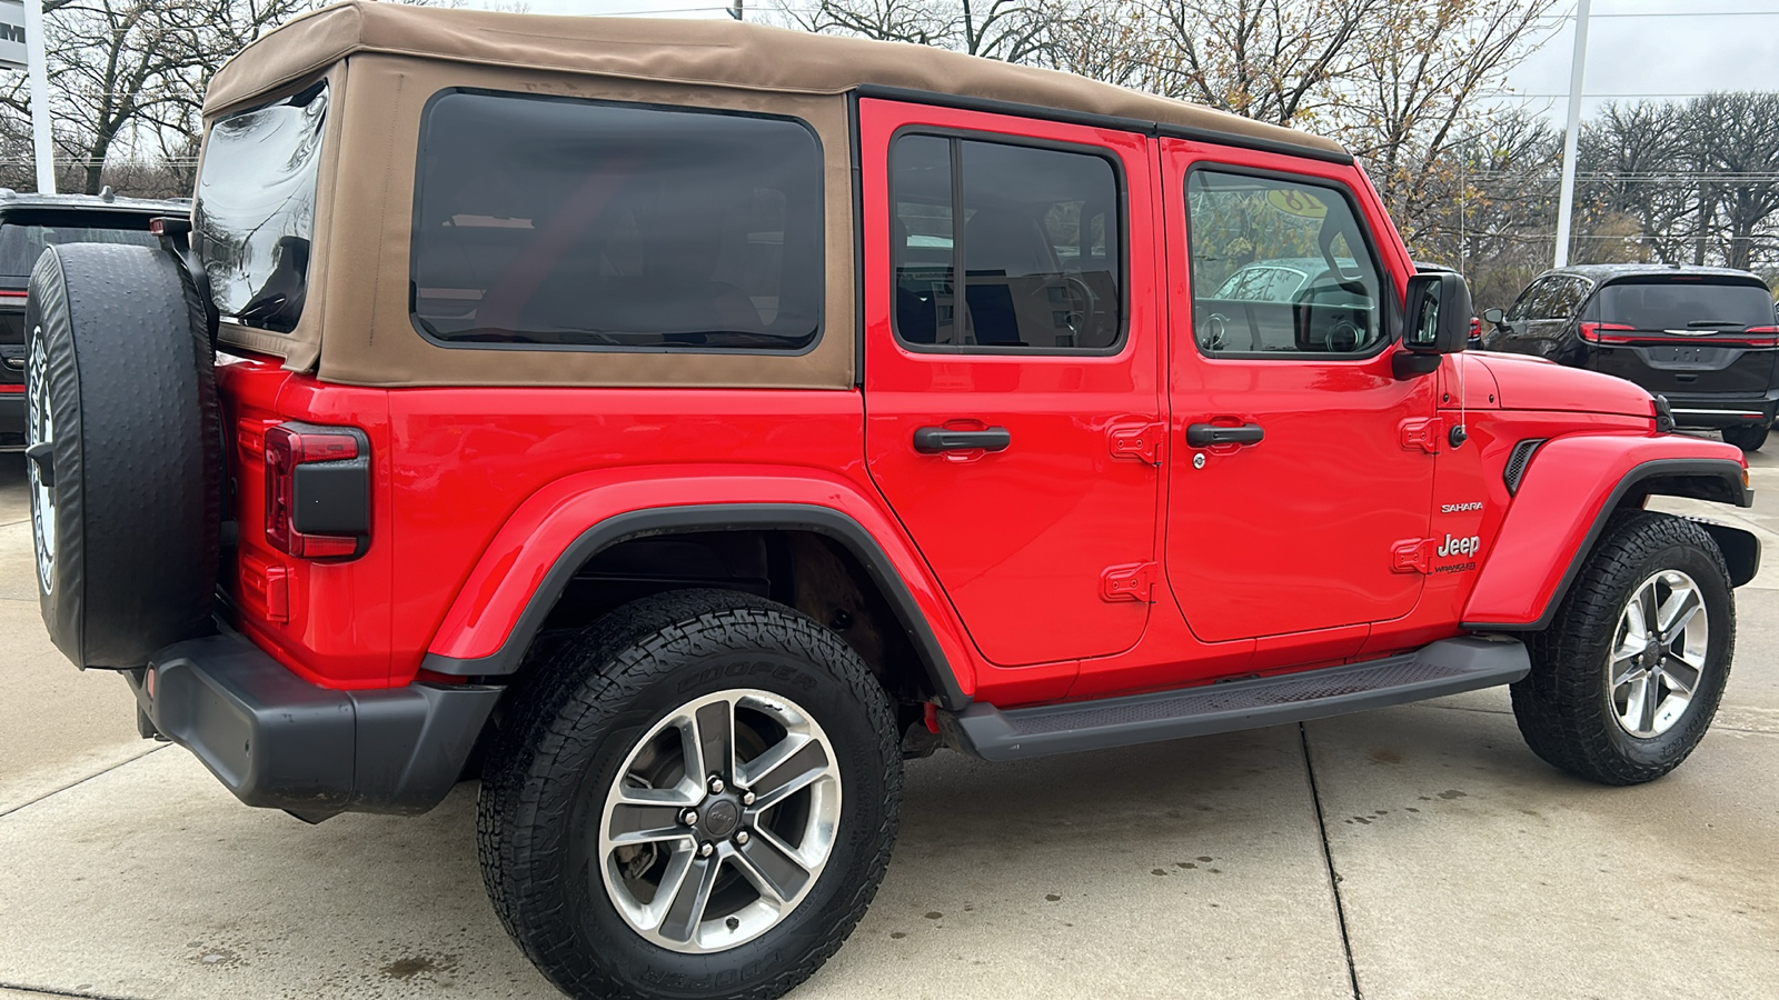
<path id="1" fill-rule="evenodd" d="M 265 541 L 302 559 L 370 546 L 370 440 L 356 427 L 265 431 Z"/>

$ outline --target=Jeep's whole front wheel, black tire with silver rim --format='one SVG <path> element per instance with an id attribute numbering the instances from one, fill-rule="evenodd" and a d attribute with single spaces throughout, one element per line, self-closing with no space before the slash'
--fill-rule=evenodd
<path id="1" fill-rule="evenodd" d="M 1606 525 L 1550 628 L 1528 642 L 1514 717 L 1548 763 L 1603 785 L 1674 770 L 1729 680 L 1736 605 L 1699 525 L 1631 511 Z"/>

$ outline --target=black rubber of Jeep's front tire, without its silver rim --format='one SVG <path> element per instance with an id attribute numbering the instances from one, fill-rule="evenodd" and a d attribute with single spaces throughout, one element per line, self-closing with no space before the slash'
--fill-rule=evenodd
<path id="1" fill-rule="evenodd" d="M 1706 669 L 1685 714 L 1642 738 L 1614 715 L 1608 655 L 1633 591 L 1662 569 L 1692 577 L 1710 619 Z M 1640 785 L 1674 770 L 1717 715 L 1735 653 L 1729 569 L 1697 523 L 1651 511 L 1614 514 L 1550 628 L 1530 637 L 1532 673 L 1512 685 L 1514 717 L 1532 753 L 1576 778 Z"/>

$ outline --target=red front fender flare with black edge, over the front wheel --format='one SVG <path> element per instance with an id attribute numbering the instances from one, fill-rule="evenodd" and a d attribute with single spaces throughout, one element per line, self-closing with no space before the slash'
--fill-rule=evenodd
<path id="1" fill-rule="evenodd" d="M 1539 632 L 1550 626 L 1606 520 L 1626 498 L 1640 505 L 1640 493 L 1662 493 L 1749 507 L 1754 495 L 1743 472 L 1740 450 L 1697 438 L 1583 434 L 1542 445 L 1464 607 L 1464 628 Z M 1754 546 L 1752 562 L 1742 544 L 1731 562 L 1733 578 L 1740 575 L 1738 566 L 1752 577 L 1759 564 L 1759 543 L 1751 536 L 1747 544 Z"/>

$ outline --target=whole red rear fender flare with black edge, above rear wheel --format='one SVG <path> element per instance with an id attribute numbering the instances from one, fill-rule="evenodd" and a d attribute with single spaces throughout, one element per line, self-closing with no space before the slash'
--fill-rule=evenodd
<path id="1" fill-rule="evenodd" d="M 808 477 L 808 470 L 797 472 Z M 811 496 L 795 489 L 795 480 L 779 477 L 662 475 L 649 482 L 656 488 L 671 482 L 678 496 L 644 491 L 646 482 L 632 479 L 585 491 L 555 484 L 521 504 L 471 569 L 420 669 L 448 676 L 512 674 L 575 571 L 624 539 L 783 528 L 817 532 L 847 546 L 895 610 L 943 706 L 970 705 L 975 674 L 950 605 L 893 521 L 850 488 L 841 493 L 838 482 L 811 484 L 820 486 Z M 653 502 L 637 504 L 639 493 L 653 493 Z M 758 500 L 710 502 L 738 495 Z"/>

